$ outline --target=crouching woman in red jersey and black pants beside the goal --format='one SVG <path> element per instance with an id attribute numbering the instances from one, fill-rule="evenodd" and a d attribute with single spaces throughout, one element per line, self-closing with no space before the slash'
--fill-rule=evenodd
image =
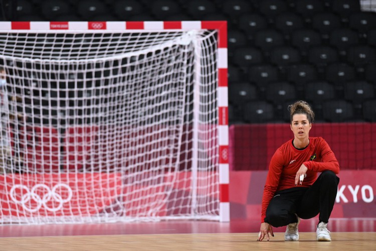
<path id="1" fill-rule="evenodd" d="M 270 161 L 257 240 L 274 236 L 272 226 L 286 225 L 285 240 L 299 240 L 300 218 L 319 214 L 317 240 L 331 241 L 327 223 L 337 195 L 339 164 L 323 138 L 309 137 L 314 119 L 310 105 L 297 101 L 288 108 L 294 138 L 279 147 Z"/>

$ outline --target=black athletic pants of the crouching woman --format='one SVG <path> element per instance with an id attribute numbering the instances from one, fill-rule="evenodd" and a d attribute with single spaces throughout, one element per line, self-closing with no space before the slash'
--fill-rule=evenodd
<path id="1" fill-rule="evenodd" d="M 332 171 L 324 171 L 309 188 L 294 187 L 276 192 L 266 209 L 265 222 L 280 227 L 297 222 L 295 213 L 302 219 L 320 213 L 319 221 L 327 223 L 338 183 L 339 178 Z"/>

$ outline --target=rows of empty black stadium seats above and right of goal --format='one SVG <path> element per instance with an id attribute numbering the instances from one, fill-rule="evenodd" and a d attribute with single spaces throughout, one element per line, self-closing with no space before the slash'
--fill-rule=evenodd
<path id="1" fill-rule="evenodd" d="M 10 14 L 1 15 L 6 19 Z M 18 0 L 12 17 L 12 21 L 161 20 L 228 21 L 230 123 L 279 121 L 276 114 L 281 107 L 296 99 L 313 103 L 323 121 L 373 119 L 374 110 L 367 105 L 374 104 L 376 88 L 376 13 L 361 11 L 358 0 Z M 281 88 L 288 97 L 273 96 Z M 239 107 L 250 100 L 248 106 Z M 266 105 L 267 116 L 257 113 L 252 119 L 244 111 L 261 104 Z M 333 104 L 345 112 L 325 111 Z M 363 117 L 356 113 L 360 108 Z"/>

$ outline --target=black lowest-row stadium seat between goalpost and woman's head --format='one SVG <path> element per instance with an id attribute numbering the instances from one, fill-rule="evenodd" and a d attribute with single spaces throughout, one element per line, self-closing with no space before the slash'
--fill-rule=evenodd
<path id="1" fill-rule="evenodd" d="M 244 120 L 249 123 L 265 123 L 274 117 L 271 103 L 266 101 L 252 101 L 244 106 Z"/>

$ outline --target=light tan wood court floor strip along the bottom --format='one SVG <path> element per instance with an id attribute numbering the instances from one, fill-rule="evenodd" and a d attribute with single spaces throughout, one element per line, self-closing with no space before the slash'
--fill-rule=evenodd
<path id="1" fill-rule="evenodd" d="M 1 250 L 376 250 L 376 232 L 332 232 L 331 242 L 302 232 L 299 241 L 256 241 L 258 233 L 137 234 L 0 238 Z"/>

